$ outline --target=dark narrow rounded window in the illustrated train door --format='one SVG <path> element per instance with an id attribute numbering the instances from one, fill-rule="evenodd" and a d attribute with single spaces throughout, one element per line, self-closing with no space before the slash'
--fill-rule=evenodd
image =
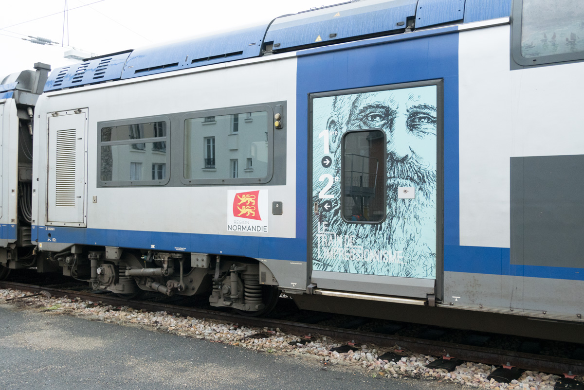
<path id="1" fill-rule="evenodd" d="M 385 133 L 347 131 L 342 140 L 342 215 L 347 222 L 385 219 Z"/>

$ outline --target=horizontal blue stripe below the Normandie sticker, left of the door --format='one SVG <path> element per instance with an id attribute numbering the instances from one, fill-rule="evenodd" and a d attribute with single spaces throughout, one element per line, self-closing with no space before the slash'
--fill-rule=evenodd
<path id="1" fill-rule="evenodd" d="M 44 226 L 34 228 L 37 230 L 39 243 L 79 243 L 137 249 L 217 253 L 296 262 L 306 261 L 305 249 L 301 248 L 297 240 L 293 238 L 69 227 L 50 227 L 54 230 L 47 230 Z"/>

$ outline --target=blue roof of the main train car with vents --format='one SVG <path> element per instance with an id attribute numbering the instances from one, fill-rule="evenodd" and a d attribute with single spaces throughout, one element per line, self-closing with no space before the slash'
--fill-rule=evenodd
<path id="1" fill-rule="evenodd" d="M 511 0 L 361 0 L 281 16 L 265 25 L 89 58 L 55 69 L 45 92 L 509 16 Z"/>

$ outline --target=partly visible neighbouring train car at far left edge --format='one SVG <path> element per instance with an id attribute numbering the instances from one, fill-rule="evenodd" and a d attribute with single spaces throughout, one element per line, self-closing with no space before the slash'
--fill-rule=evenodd
<path id="1" fill-rule="evenodd" d="M 51 68 L 34 68 L 0 79 L 0 280 L 15 268 L 43 270 L 31 241 L 33 116 Z"/>

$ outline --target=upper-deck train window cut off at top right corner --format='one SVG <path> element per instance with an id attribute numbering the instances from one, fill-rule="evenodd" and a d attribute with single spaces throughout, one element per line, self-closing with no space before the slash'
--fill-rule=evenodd
<path id="1" fill-rule="evenodd" d="M 520 65 L 584 59 L 584 3 L 581 0 L 516 1 L 513 58 Z"/>

